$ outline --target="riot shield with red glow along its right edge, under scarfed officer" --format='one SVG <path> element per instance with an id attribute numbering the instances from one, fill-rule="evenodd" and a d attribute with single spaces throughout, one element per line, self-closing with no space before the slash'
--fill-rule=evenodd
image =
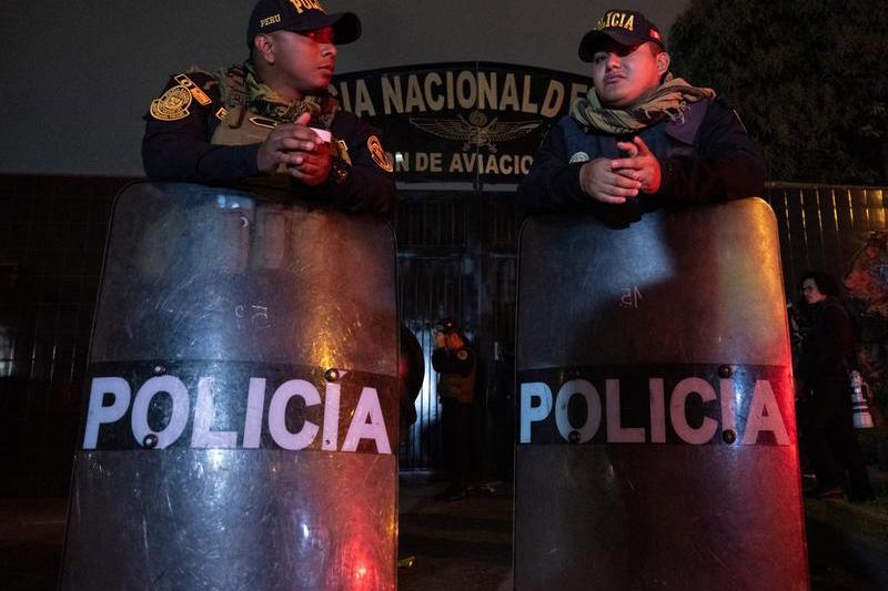
<path id="1" fill-rule="evenodd" d="M 807 589 L 774 214 L 525 223 L 515 589 Z"/>

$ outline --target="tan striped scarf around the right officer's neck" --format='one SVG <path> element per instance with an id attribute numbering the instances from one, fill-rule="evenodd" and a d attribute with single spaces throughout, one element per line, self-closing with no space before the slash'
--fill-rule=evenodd
<path id="1" fill-rule="evenodd" d="M 628 109 L 603 106 L 593 86 L 586 96 L 576 99 L 571 105 L 571 116 L 586 128 L 622 135 L 649 128 L 667 118 L 684 122 L 688 103 L 704 99 L 715 99 L 715 91 L 692 86 L 682 78 L 666 74 L 663 84 Z"/>

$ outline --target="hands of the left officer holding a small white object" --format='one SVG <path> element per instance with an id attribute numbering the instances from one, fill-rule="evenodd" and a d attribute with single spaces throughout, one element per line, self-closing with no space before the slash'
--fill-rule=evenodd
<path id="1" fill-rule="evenodd" d="M 273 174 L 284 164 L 293 179 L 306 185 L 326 181 L 333 163 L 332 150 L 307 126 L 310 120 L 311 115 L 303 113 L 295 122 L 272 130 L 256 155 L 260 172 Z"/>

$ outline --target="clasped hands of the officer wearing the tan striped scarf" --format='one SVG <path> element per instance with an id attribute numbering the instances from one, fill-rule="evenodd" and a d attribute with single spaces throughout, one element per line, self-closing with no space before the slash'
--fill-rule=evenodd
<path id="1" fill-rule="evenodd" d="M 617 142 L 626 157 L 595 159 L 579 169 L 583 192 L 603 203 L 625 203 L 638 193 L 652 194 L 659 190 L 659 161 L 640 137 L 632 142 Z"/>

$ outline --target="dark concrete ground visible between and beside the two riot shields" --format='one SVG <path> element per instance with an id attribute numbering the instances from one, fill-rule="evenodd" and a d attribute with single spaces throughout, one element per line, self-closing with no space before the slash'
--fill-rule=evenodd
<path id="1" fill-rule="evenodd" d="M 875 502 L 805 501 L 813 590 L 888 590 L 888 473 L 872 477 Z M 402 479 L 398 589 L 512 589 L 511 486 L 436 499 L 445 486 Z M 64 510 L 61 498 L 0 499 L 0 589 L 56 588 Z"/>

